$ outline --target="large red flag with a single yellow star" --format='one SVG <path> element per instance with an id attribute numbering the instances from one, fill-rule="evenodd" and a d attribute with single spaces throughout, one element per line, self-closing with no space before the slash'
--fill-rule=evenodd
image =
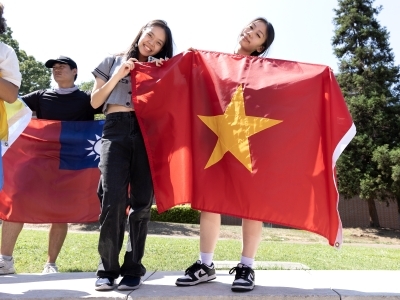
<path id="1" fill-rule="evenodd" d="M 335 163 L 355 127 L 329 67 L 196 51 L 132 77 L 159 212 L 191 203 L 340 247 Z"/>

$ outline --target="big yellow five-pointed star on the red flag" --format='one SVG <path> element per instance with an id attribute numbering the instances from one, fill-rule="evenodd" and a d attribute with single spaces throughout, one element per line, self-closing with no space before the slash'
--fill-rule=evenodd
<path id="1" fill-rule="evenodd" d="M 229 151 L 250 172 L 253 168 L 249 137 L 282 122 L 282 120 L 247 116 L 242 85 L 236 89 L 223 115 L 198 117 L 218 136 L 217 144 L 205 169 L 219 162 Z"/>

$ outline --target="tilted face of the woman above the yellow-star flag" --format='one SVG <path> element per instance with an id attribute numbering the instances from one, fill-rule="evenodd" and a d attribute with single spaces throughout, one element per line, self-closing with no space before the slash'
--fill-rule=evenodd
<path id="1" fill-rule="evenodd" d="M 236 53 L 250 55 L 254 51 L 262 52 L 266 40 L 267 25 L 262 21 L 254 21 L 247 25 L 240 34 Z"/>

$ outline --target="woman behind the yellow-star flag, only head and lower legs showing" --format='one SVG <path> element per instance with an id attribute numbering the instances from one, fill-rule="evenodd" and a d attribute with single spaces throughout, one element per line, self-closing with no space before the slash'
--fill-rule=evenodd
<path id="1" fill-rule="evenodd" d="M 246 25 L 239 35 L 234 51 L 236 55 L 264 56 L 275 38 L 270 22 L 256 18 Z M 193 49 L 192 49 L 193 50 Z M 216 278 L 213 264 L 214 249 L 218 241 L 221 215 L 201 212 L 200 216 L 200 257 L 176 280 L 177 286 L 192 286 Z M 252 269 L 254 257 L 261 241 L 262 222 L 242 220 L 243 248 L 240 263 L 230 270 L 236 272 L 232 291 L 251 291 L 254 288 L 255 274 Z"/>

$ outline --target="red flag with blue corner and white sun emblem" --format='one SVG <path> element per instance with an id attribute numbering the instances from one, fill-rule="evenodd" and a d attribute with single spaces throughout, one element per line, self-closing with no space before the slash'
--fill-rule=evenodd
<path id="1" fill-rule="evenodd" d="M 31 120 L 3 156 L 0 219 L 24 223 L 97 221 L 103 123 Z"/>

